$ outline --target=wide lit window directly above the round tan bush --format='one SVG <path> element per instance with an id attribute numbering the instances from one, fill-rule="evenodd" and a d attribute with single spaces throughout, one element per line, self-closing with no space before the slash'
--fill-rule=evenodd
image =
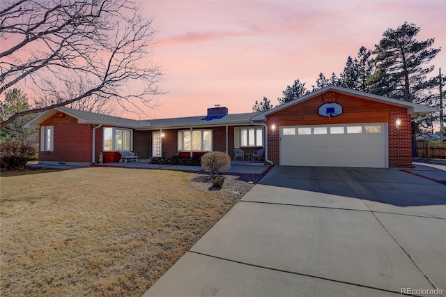
<path id="1" fill-rule="evenodd" d="M 178 151 L 212 151 L 212 130 L 178 131 Z"/>

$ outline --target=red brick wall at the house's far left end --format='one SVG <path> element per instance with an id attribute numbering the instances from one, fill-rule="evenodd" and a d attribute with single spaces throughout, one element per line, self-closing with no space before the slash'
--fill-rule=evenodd
<path id="1" fill-rule="evenodd" d="M 91 163 L 93 126 L 54 121 L 43 122 L 41 126 L 45 125 L 54 126 L 54 151 L 40 151 L 39 148 L 39 161 Z M 41 132 L 39 135 L 41 137 Z"/>

